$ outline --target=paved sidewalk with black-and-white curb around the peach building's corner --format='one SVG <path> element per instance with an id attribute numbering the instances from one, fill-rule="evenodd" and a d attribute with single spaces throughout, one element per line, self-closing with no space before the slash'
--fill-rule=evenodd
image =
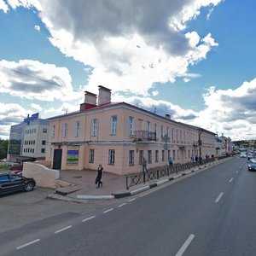
<path id="1" fill-rule="evenodd" d="M 228 159 L 225 159 L 228 160 Z M 95 179 L 96 171 L 83 170 L 83 171 L 61 171 L 60 180 L 63 182 L 71 183 L 70 186 L 62 189 L 56 189 L 55 194 L 48 197 L 52 199 L 65 200 L 65 201 L 87 201 L 89 199 L 113 199 L 122 198 L 125 196 L 136 195 L 145 190 L 152 189 L 160 186 L 163 183 L 168 183 L 176 178 L 187 175 L 191 172 L 196 172 L 206 169 L 208 166 L 216 165 L 224 160 L 218 160 L 214 163 L 207 164 L 206 166 L 195 167 L 194 169 L 186 170 L 171 174 L 167 177 L 162 177 L 159 180 L 150 181 L 148 183 L 141 183 L 130 189 L 125 189 L 126 180 L 125 176 L 115 175 L 113 173 L 104 172 L 102 176 L 103 186 L 100 189 L 96 188 Z"/>

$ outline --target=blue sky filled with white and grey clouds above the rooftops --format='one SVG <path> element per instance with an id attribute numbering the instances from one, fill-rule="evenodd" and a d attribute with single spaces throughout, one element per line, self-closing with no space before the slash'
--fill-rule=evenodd
<path id="1" fill-rule="evenodd" d="M 255 0 L 0 0 L 0 138 L 84 91 L 256 139 Z"/>

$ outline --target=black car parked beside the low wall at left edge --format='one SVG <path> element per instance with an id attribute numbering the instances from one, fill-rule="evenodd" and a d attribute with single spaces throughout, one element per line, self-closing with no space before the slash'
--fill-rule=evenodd
<path id="1" fill-rule="evenodd" d="M 15 191 L 31 191 L 36 182 L 31 177 L 23 177 L 12 173 L 0 174 L 0 195 Z"/>

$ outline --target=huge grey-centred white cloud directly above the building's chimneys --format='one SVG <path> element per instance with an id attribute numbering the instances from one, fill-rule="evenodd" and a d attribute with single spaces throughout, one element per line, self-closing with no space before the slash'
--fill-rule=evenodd
<path id="1" fill-rule="evenodd" d="M 174 82 L 207 57 L 217 46 L 211 34 L 183 34 L 177 26 L 199 15 L 201 7 L 216 6 L 221 0 L 122 0 L 40 2 L 9 1 L 13 8 L 35 6 L 50 42 L 64 55 L 90 65 L 93 71 L 86 90 L 96 84 L 113 91 L 148 95 L 156 82 Z M 175 20 L 175 22 L 173 21 Z M 170 26 L 170 24 L 177 26 Z"/>

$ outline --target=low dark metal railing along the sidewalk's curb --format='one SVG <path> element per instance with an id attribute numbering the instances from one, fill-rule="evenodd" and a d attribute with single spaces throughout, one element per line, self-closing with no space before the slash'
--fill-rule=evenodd
<path id="1" fill-rule="evenodd" d="M 211 158 L 211 159 L 200 160 L 197 162 L 188 162 L 185 164 L 174 164 L 172 168 L 170 168 L 169 166 L 167 167 L 159 166 L 159 167 L 154 167 L 152 169 L 149 169 L 147 173 L 137 172 L 131 175 L 127 175 L 126 189 L 129 189 L 132 186 L 135 186 L 141 183 L 158 180 L 160 179 L 160 177 L 167 177 L 173 173 L 184 172 L 186 170 L 195 168 L 197 166 L 206 165 L 208 163 L 214 162 L 215 160 L 221 160 L 224 158 L 227 158 L 227 156 L 218 157 L 217 159 Z"/>

